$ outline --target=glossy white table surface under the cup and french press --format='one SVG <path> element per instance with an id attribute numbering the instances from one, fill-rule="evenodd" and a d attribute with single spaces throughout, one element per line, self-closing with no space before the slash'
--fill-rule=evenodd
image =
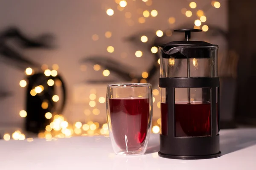
<path id="1" fill-rule="evenodd" d="M 0 170 L 256 170 L 256 129 L 221 130 L 220 135 L 222 156 L 204 160 L 159 157 L 159 134 L 151 135 L 143 156 L 115 155 L 104 136 L 0 140 Z"/>

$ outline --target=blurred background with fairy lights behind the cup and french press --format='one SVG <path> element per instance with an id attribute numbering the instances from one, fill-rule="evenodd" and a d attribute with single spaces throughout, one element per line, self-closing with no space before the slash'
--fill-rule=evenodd
<path id="1" fill-rule="evenodd" d="M 157 46 L 219 45 L 221 128 L 253 127 L 256 12 L 231 0 L 3 0 L 0 3 L 0 137 L 108 135 L 108 83 L 153 85 L 152 132 L 160 131 Z"/>

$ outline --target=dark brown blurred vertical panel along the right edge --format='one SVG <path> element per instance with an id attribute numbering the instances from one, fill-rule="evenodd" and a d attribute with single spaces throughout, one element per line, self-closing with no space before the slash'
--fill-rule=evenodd
<path id="1" fill-rule="evenodd" d="M 228 1 L 229 48 L 239 55 L 235 119 L 256 126 L 256 1 Z"/>

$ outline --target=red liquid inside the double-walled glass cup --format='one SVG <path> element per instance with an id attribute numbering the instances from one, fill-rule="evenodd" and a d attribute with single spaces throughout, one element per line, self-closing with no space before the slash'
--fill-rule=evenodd
<path id="1" fill-rule="evenodd" d="M 147 135 L 149 99 L 109 99 L 109 110 L 116 144 L 123 149 L 139 149 Z"/>

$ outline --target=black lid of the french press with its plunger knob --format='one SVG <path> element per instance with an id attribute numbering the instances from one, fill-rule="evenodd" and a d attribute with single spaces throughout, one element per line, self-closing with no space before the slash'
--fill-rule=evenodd
<path id="1" fill-rule="evenodd" d="M 209 58 L 212 48 L 218 48 L 218 45 L 204 41 L 189 41 L 191 32 L 201 32 L 201 29 L 177 29 L 174 32 L 184 32 L 186 41 L 172 41 L 159 48 L 163 58 Z M 175 48 L 176 47 L 176 48 Z"/>

